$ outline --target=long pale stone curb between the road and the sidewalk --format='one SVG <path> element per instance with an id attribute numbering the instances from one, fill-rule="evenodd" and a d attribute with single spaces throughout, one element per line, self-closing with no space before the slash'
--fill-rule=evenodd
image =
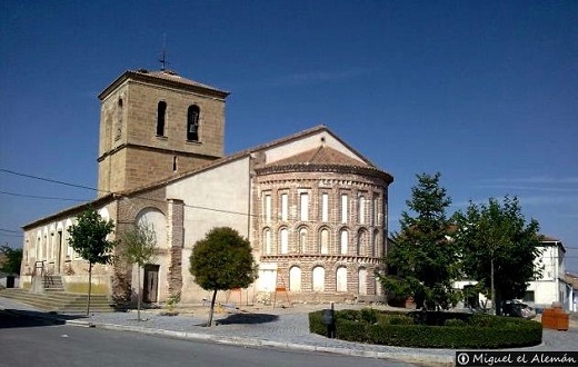
<path id="1" fill-rule="evenodd" d="M 96 327 L 100 329 L 117 330 L 117 331 L 130 331 L 160 337 L 185 339 L 185 340 L 199 340 L 199 341 L 212 341 L 223 345 L 236 345 L 243 347 L 270 347 L 277 349 L 289 349 L 300 351 L 317 351 L 327 353 L 333 355 L 352 356 L 352 357 L 365 357 L 376 359 L 390 359 L 397 361 L 403 361 L 409 364 L 422 364 L 427 366 L 454 366 L 454 357 L 451 356 L 438 356 L 438 355 L 423 355 L 423 354 L 408 354 L 408 353 L 391 353 L 391 351 L 370 351 L 359 350 L 350 348 L 339 347 L 318 347 L 309 346 L 305 344 L 295 343 L 282 343 L 265 339 L 255 338 L 241 338 L 241 337 L 227 337 L 219 335 L 201 334 L 201 333 L 188 333 L 188 331 L 175 331 L 165 329 L 155 329 L 139 326 L 126 326 L 114 324 L 93 324 L 89 321 L 79 320 L 66 320 L 66 325 L 80 326 L 80 327 Z"/>

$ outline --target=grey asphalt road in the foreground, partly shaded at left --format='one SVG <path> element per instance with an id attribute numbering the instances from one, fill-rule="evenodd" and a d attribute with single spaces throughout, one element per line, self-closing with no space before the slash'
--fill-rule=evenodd
<path id="1" fill-rule="evenodd" d="M 0 366 L 412 366 L 382 359 L 243 348 L 141 334 L 51 325 L 0 310 Z"/>

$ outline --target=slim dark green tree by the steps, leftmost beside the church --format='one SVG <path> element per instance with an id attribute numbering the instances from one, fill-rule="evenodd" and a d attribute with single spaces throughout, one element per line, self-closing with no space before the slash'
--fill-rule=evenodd
<path id="1" fill-rule="evenodd" d="M 90 294 L 92 290 L 92 266 L 94 264 L 107 264 L 111 259 L 110 252 L 116 242 L 107 239 L 108 235 L 114 229 L 112 220 L 104 220 L 92 208 L 86 209 L 72 225 L 69 245 L 88 261 L 88 304 L 87 315 L 90 314 Z"/>

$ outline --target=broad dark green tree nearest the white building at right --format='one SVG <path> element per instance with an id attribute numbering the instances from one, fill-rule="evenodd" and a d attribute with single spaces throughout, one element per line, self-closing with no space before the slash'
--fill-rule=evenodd
<path id="1" fill-rule="evenodd" d="M 465 275 L 480 282 L 501 315 L 502 300 L 522 297 L 528 281 L 541 276 L 541 267 L 535 265 L 541 252 L 539 224 L 526 222 L 518 199 L 507 196 L 502 202 L 470 202 L 455 218 Z"/>

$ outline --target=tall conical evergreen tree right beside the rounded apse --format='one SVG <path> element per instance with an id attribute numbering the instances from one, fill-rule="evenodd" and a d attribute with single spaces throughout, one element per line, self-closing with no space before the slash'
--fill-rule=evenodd
<path id="1" fill-rule="evenodd" d="M 397 296 L 413 297 L 418 308 L 448 309 L 456 305 L 459 292 L 452 280 L 459 275 L 459 254 L 451 240 L 451 221 L 446 209 L 451 204 L 439 186 L 440 173 L 417 175 L 406 204 L 415 214 L 401 214 L 400 230 L 386 254 L 386 264 L 398 277 L 379 276 L 383 287 Z"/>

